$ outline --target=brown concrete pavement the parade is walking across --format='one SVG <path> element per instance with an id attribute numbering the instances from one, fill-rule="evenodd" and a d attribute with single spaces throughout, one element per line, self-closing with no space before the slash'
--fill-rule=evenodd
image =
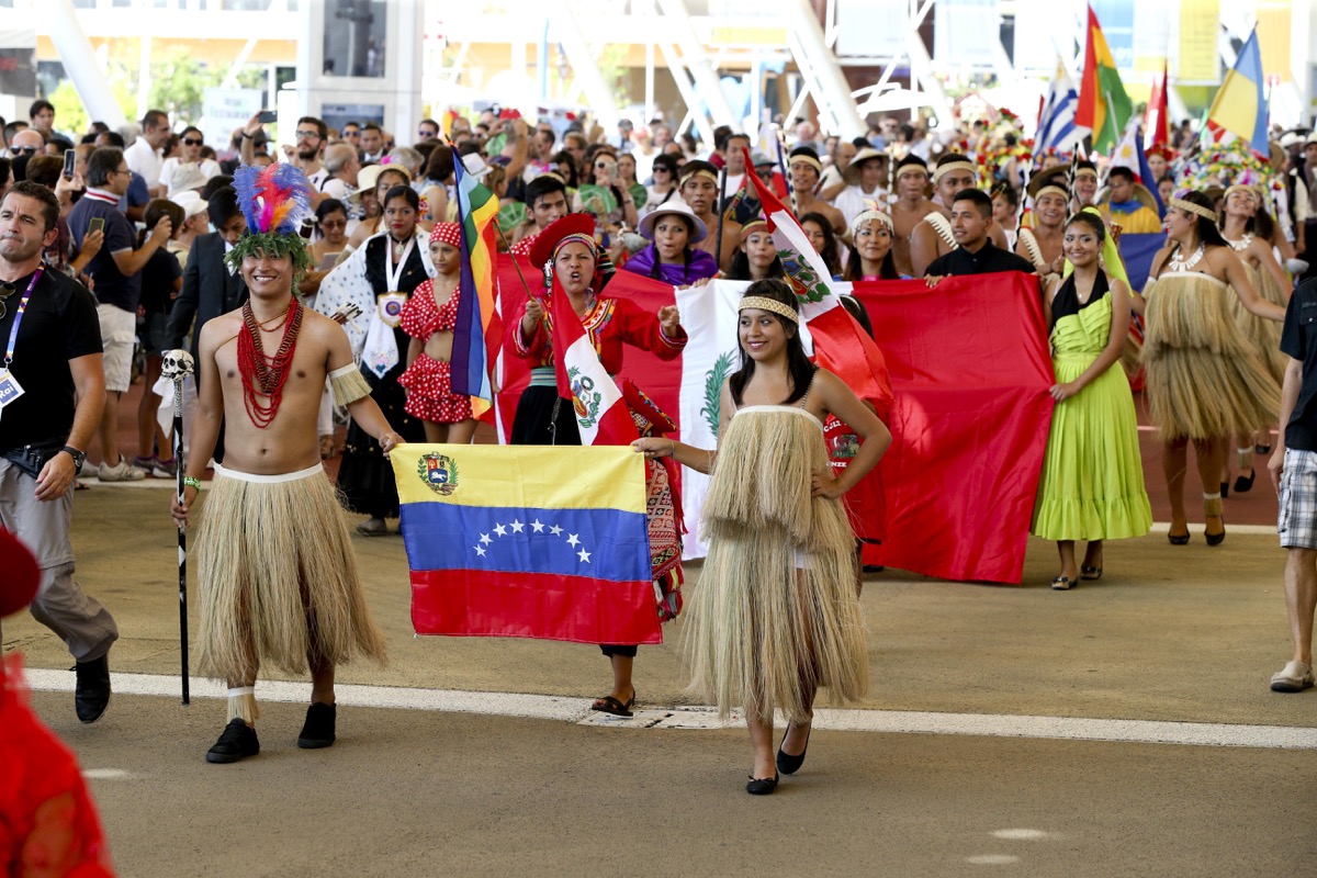
<path id="1" fill-rule="evenodd" d="M 412 692 L 415 710 L 367 707 L 392 702 L 353 690 L 340 742 L 300 752 L 304 707 L 265 700 L 262 754 L 207 765 L 224 707 L 202 683 L 190 708 L 176 702 L 169 494 L 100 486 L 75 503 L 78 578 L 122 632 L 112 669 L 142 677 L 117 678 L 109 715 L 92 727 L 74 719 L 66 691 L 34 694 L 94 773 L 124 875 L 1317 869 L 1303 824 L 1317 692 L 1267 690 L 1289 652 L 1272 534 L 1235 532 L 1209 549 L 1197 525 L 1184 548 L 1162 534 L 1113 542 L 1104 579 L 1064 594 L 1047 588 L 1055 554 L 1042 541 L 1023 587 L 869 577 L 873 686 L 855 715 L 865 721 L 820 713 L 802 774 L 764 800 L 743 792 L 740 727 L 577 724 L 586 699 L 607 690 L 594 648 L 414 637 L 396 537 L 354 540 L 391 663 L 345 667 L 340 682 L 367 696 Z M 698 588 L 698 566 L 690 573 Z M 691 704 L 680 621 L 666 634 L 637 659 L 649 710 Z M 25 652 L 41 686 L 71 688 L 63 645 L 30 617 L 8 620 L 4 645 Z M 125 694 L 141 681 L 169 695 Z M 518 711 L 490 707 L 494 696 L 461 700 L 468 692 L 527 694 L 552 710 L 487 715 Z M 931 719 L 903 724 L 910 716 Z M 1052 737 L 1065 724 L 1050 717 L 1071 717 L 1072 733 Z M 1223 732 L 1195 738 L 1191 723 Z M 1238 745 L 1147 742 L 1159 740 Z"/>

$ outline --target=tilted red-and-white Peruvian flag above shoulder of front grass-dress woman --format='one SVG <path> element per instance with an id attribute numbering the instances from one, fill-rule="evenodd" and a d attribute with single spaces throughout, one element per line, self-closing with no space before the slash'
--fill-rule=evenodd
<path id="1" fill-rule="evenodd" d="M 745 162 L 751 162 L 749 150 L 745 150 Z M 892 384 L 882 351 L 842 305 L 832 275 L 792 212 L 755 174 L 747 174 L 745 179 L 764 205 L 764 219 L 786 270 L 786 280 L 801 300 L 815 362 L 844 380 L 856 396 L 872 403 L 881 417 L 892 405 Z"/>

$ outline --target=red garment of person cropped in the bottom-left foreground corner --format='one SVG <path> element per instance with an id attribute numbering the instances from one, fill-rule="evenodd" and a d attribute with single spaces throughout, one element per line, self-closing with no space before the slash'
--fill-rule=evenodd
<path id="1" fill-rule="evenodd" d="M 0 875 L 113 878 L 78 760 L 32 712 L 18 656 L 0 662 Z"/>

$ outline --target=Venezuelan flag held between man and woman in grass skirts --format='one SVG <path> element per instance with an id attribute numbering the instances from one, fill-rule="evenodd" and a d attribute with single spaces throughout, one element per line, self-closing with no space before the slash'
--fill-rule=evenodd
<path id="1" fill-rule="evenodd" d="M 419 634 L 660 644 L 644 458 L 627 446 L 390 453 Z"/>

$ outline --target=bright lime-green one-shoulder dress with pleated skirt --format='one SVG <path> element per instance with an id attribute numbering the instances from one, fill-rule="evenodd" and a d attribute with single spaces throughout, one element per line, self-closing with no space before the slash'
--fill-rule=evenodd
<path id="1" fill-rule="evenodd" d="M 1083 375 L 1110 333 L 1110 296 L 1058 320 L 1056 383 Z M 1151 527 L 1134 396 L 1123 371 L 1112 367 L 1052 409 L 1030 530 L 1044 540 L 1121 540 Z"/>

